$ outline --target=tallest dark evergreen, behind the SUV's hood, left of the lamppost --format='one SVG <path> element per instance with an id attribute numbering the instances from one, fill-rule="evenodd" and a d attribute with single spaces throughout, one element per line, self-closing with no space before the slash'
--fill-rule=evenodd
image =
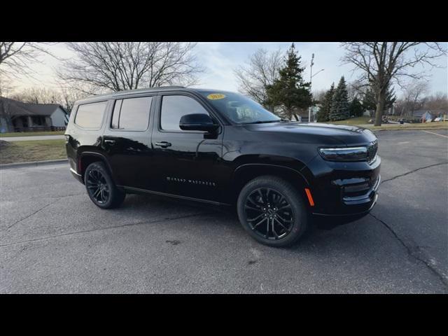
<path id="1" fill-rule="evenodd" d="M 281 106 L 286 117 L 298 120 L 300 109 L 307 109 L 312 104 L 310 83 L 303 79 L 304 67 L 300 66 L 300 56 L 295 51 L 294 43 L 286 54 L 286 64 L 279 70 L 279 78 L 272 85 L 267 85 L 267 104 Z"/>

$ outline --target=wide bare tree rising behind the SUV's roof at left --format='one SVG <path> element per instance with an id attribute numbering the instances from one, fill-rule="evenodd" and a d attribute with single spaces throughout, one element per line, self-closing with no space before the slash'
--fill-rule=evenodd
<path id="1" fill-rule="evenodd" d="M 203 69 L 193 54 L 195 43 L 67 43 L 75 54 L 64 61 L 59 78 L 89 94 L 162 85 L 194 85 Z M 80 88 L 80 85 L 83 87 Z"/>

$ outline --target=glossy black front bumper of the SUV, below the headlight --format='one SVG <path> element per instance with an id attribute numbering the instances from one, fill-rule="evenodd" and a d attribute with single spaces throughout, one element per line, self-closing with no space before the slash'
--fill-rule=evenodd
<path id="1" fill-rule="evenodd" d="M 316 158 L 309 165 L 311 193 L 319 216 L 358 216 L 367 214 L 376 204 L 381 183 L 381 158 L 367 162 L 328 162 Z M 312 173 L 312 170 L 311 170 Z"/>

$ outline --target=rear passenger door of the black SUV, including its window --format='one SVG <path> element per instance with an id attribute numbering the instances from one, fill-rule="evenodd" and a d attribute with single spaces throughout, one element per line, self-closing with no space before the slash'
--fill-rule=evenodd
<path id="1" fill-rule="evenodd" d="M 154 97 L 125 97 L 113 102 L 102 148 L 121 186 L 154 188 L 150 118 Z"/>

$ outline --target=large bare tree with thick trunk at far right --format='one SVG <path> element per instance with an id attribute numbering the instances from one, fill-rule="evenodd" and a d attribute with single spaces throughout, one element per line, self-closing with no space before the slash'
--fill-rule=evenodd
<path id="1" fill-rule="evenodd" d="M 435 59 L 447 55 L 441 43 L 421 42 L 350 42 L 343 61 L 360 69 L 360 81 L 367 80 L 377 99 L 375 126 L 381 125 L 386 90 L 393 80 L 402 85 L 400 78 L 424 78 L 423 72 L 411 72 L 417 65 L 437 66 Z"/>

